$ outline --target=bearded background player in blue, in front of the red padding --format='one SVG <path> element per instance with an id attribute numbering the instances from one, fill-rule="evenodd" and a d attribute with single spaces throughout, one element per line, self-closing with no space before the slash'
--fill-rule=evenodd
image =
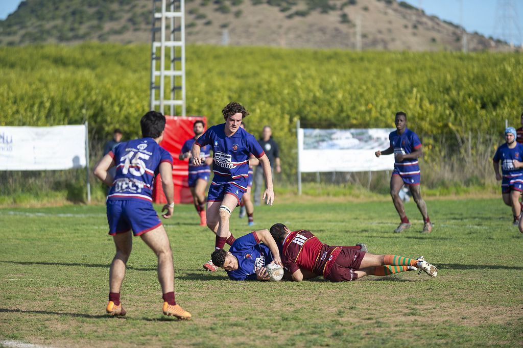
<path id="1" fill-rule="evenodd" d="M 179 159 L 189 159 L 189 177 L 188 184 L 191 190 L 192 199 L 196 207 L 196 211 L 200 215 L 200 226 L 207 225 L 207 219 L 205 217 L 205 189 L 207 188 L 207 182 L 211 175 L 211 169 L 209 166 L 212 163 L 211 157 L 211 146 L 203 146 L 200 150 L 200 155 L 205 157 L 201 166 L 195 166 L 192 164 L 191 148 L 195 141 L 203 134 L 205 125 L 203 121 L 198 120 L 192 125 L 192 130 L 195 132 L 195 136 L 188 139 L 181 147 Z"/>

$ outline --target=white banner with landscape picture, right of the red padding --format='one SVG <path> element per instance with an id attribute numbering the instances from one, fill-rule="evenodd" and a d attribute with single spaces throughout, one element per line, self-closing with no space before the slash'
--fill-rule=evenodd
<path id="1" fill-rule="evenodd" d="M 389 148 L 393 128 L 298 130 L 301 172 L 378 171 L 394 169 L 394 155 L 380 156 Z"/>

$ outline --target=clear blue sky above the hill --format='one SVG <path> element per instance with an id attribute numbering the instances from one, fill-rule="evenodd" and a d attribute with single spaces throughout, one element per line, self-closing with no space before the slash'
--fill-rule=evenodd
<path id="1" fill-rule="evenodd" d="M 366 1 L 376 0 L 359 0 L 358 3 L 363 4 Z M 5 19 L 10 13 L 13 13 L 20 2 L 21 0 L 0 0 L 0 19 Z M 462 24 L 467 31 L 477 31 L 487 37 L 499 37 L 494 33 L 496 0 L 407 0 L 406 2 L 416 7 L 421 5 L 428 15 L 436 15 L 441 19 Z M 461 3 L 463 3 L 463 23 L 461 23 L 460 16 Z M 519 15 L 517 25 L 520 31 L 520 34 L 518 34 L 513 25 L 513 32 L 517 36 L 514 43 L 521 44 L 523 39 L 521 38 L 521 35 L 523 35 L 523 0 L 514 0 L 514 3 Z"/>

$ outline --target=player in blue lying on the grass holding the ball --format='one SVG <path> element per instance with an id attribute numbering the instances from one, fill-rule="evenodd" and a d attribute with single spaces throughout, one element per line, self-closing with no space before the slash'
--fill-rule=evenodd
<path id="1" fill-rule="evenodd" d="M 367 251 L 367 246 L 363 243 L 344 248 Z M 281 265 L 277 244 L 267 229 L 254 231 L 236 239 L 229 251 L 214 250 L 211 260 L 212 263 L 223 268 L 232 280 L 267 281 L 269 275 L 265 266 L 269 263 Z"/>

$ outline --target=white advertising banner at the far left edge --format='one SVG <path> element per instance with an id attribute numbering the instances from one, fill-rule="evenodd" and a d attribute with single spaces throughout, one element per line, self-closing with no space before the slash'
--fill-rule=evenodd
<path id="1" fill-rule="evenodd" d="M 86 126 L 0 126 L 0 170 L 84 168 Z"/>

